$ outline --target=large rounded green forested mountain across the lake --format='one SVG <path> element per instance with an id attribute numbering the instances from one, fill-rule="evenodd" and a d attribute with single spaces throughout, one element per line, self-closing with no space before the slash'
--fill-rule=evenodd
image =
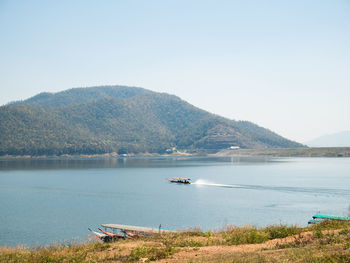
<path id="1" fill-rule="evenodd" d="M 125 86 L 40 93 L 0 107 L 0 155 L 164 153 L 301 147 L 166 93 Z"/>

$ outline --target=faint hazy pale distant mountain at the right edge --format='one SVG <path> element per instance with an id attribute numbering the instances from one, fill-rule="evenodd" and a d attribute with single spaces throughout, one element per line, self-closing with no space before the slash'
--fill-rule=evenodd
<path id="1" fill-rule="evenodd" d="M 310 147 L 350 147 L 350 131 L 323 135 L 305 144 Z"/>

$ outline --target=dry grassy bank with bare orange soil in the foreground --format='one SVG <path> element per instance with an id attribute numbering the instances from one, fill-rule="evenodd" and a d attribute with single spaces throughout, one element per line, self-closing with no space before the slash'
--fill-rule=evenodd
<path id="1" fill-rule="evenodd" d="M 0 262 L 350 262 L 349 222 L 192 230 L 103 244 L 1 248 Z"/>

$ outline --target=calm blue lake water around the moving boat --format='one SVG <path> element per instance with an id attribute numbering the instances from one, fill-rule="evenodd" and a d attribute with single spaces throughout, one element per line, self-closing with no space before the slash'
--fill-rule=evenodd
<path id="1" fill-rule="evenodd" d="M 167 181 L 179 176 L 195 184 Z M 317 212 L 346 215 L 349 204 L 349 158 L 0 160 L 0 245 L 7 246 L 81 240 L 106 223 L 304 226 Z"/>

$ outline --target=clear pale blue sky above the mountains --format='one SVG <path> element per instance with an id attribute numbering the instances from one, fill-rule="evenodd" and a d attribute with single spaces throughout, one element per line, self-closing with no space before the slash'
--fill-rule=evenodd
<path id="1" fill-rule="evenodd" d="M 0 0 L 0 104 L 120 84 L 300 142 L 350 130 L 350 1 Z"/>

